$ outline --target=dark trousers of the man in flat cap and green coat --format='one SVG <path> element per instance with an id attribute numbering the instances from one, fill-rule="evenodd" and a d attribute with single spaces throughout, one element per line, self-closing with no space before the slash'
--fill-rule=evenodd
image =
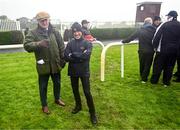
<path id="1" fill-rule="evenodd" d="M 56 74 L 39 75 L 39 93 L 40 93 L 41 105 L 43 107 L 47 106 L 47 87 L 48 87 L 49 76 L 51 76 L 51 79 L 53 81 L 54 98 L 55 100 L 58 100 L 60 98 L 61 74 L 56 73 Z"/>

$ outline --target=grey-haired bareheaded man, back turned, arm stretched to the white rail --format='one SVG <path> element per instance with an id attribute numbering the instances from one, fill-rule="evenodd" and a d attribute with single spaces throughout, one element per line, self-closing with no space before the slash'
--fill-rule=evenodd
<path id="1" fill-rule="evenodd" d="M 128 43 L 136 38 L 139 40 L 139 62 L 141 82 L 145 83 L 148 80 L 148 75 L 153 61 L 154 50 L 152 46 L 152 38 L 155 33 L 155 28 L 152 26 L 152 19 L 145 18 L 144 25 L 130 37 L 123 40 L 122 43 Z"/>

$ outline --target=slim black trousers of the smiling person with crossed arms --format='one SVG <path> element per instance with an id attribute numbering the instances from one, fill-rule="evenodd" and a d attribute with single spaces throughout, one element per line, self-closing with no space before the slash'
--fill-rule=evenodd
<path id="1" fill-rule="evenodd" d="M 89 112 L 90 113 L 95 113 L 95 107 L 94 107 L 94 102 L 93 98 L 90 92 L 90 82 L 89 82 L 89 77 L 72 77 L 71 76 L 71 86 L 76 102 L 76 107 L 81 107 L 81 97 L 79 94 L 79 78 L 81 79 L 82 86 L 83 86 L 83 91 L 86 97 L 87 105 L 89 107 Z"/>

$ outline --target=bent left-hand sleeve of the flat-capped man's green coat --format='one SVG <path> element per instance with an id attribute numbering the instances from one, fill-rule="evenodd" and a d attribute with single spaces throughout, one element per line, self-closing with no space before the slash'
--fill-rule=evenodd
<path id="1" fill-rule="evenodd" d="M 35 40 L 35 36 L 30 31 L 25 37 L 24 49 L 28 52 L 34 52 L 37 51 L 38 48 L 39 48 L 39 43 L 38 41 Z"/>

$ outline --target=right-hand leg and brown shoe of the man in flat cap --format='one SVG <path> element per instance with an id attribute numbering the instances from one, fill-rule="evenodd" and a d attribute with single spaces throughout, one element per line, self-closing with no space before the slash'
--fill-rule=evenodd
<path id="1" fill-rule="evenodd" d="M 60 106 L 65 106 L 65 103 L 60 100 L 60 90 L 61 90 L 61 74 L 55 73 L 51 74 L 51 79 L 53 81 L 53 92 L 55 103 Z"/>

